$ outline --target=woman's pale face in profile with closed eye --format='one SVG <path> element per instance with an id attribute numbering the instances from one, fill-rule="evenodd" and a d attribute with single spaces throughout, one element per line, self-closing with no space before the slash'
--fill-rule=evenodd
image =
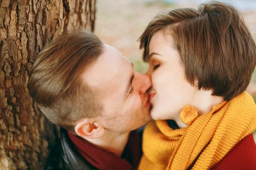
<path id="1" fill-rule="evenodd" d="M 150 67 L 147 74 L 152 79 L 151 117 L 154 120 L 179 119 L 186 105 L 192 105 L 195 86 L 185 79 L 180 57 L 173 48 L 172 36 L 158 31 L 149 43 Z"/>

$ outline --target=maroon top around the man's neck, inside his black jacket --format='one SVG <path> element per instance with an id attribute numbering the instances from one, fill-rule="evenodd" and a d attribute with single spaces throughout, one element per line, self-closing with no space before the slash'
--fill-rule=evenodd
<path id="1" fill-rule="evenodd" d="M 105 149 L 96 147 L 79 136 L 68 132 L 79 154 L 93 167 L 99 170 L 134 170 L 139 165 L 142 155 L 140 136 L 136 130 L 130 133 L 125 150 L 121 157 Z"/>

